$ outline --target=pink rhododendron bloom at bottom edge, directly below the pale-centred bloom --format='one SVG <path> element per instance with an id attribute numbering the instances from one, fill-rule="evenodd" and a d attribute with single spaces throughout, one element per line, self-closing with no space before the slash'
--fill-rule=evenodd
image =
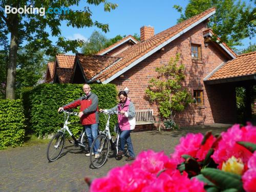
<path id="1" fill-rule="evenodd" d="M 187 173 L 183 172 L 181 175 L 178 170 L 169 175 L 165 172 L 152 182 L 150 185 L 142 189 L 143 192 L 155 192 L 155 191 L 170 191 L 170 192 L 182 192 L 182 191 L 197 191 L 204 192 L 204 183 L 197 179 L 190 180 L 187 177 Z"/>

